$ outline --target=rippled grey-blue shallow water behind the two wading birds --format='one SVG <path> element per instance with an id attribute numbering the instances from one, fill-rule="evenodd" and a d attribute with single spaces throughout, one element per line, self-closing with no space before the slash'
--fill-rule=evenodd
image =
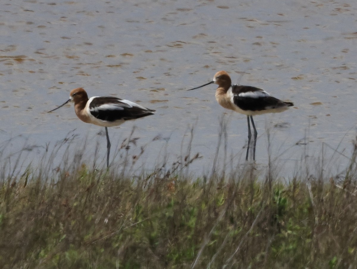
<path id="1" fill-rule="evenodd" d="M 103 128 L 79 121 L 72 106 L 45 113 L 81 86 L 89 96 L 114 95 L 157 111 L 109 129 L 117 145 L 137 126 L 138 145 L 148 143 L 147 168 L 163 151 L 170 161 L 184 155 L 193 125 L 191 153 L 203 158 L 190 169 L 211 169 L 223 113 L 227 154 L 235 156 L 233 164 L 243 163 L 245 115 L 221 108 L 215 85 L 186 91 L 226 70 L 233 83 L 295 103 L 284 113 L 255 117 L 261 167 L 268 163 L 269 133 L 270 154 L 284 164 L 280 176 L 293 176 L 301 159 L 321 154 L 326 170 L 333 164 L 332 173 L 343 171 L 356 135 L 356 11 L 353 0 L 2 1 L 2 161 L 26 144 L 23 165 L 34 164 L 46 145 L 76 129 L 76 143 L 87 138 L 88 155 L 100 142 L 104 166 Z"/>

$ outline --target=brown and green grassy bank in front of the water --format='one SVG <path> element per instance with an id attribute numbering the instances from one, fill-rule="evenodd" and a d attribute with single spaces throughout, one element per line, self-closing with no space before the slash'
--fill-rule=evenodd
<path id="1" fill-rule="evenodd" d="M 197 179 L 28 171 L 0 183 L 0 268 L 357 268 L 355 164 L 341 185 L 257 180 L 252 164 Z"/>

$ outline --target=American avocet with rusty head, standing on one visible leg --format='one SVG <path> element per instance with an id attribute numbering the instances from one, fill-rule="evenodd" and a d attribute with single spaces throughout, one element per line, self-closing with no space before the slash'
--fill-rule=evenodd
<path id="1" fill-rule="evenodd" d="M 110 153 L 108 127 L 120 125 L 127 120 L 135 120 L 153 115 L 155 111 L 144 108 L 132 101 L 112 96 L 94 96 L 88 99 L 88 95 L 83 88 L 76 88 L 71 91 L 69 100 L 58 108 L 48 112 L 59 109 L 70 101 L 74 101 L 74 110 L 81 121 L 105 127 L 107 137 L 107 167 L 109 166 Z"/>

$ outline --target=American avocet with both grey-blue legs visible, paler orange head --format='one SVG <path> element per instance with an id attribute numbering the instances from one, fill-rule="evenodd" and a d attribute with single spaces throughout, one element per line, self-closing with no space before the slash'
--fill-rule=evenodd
<path id="1" fill-rule="evenodd" d="M 232 85 L 230 76 L 226 71 L 218 71 L 213 80 L 203 84 L 202 86 L 189 89 L 195 90 L 203 86 L 216 83 L 218 88 L 216 90 L 216 100 L 223 108 L 237 111 L 238 113 L 247 115 L 248 120 L 248 146 L 246 160 L 248 160 L 249 145 L 251 141 L 251 129 L 249 118 L 254 129 L 254 144 L 253 144 L 253 160 L 255 160 L 255 146 L 257 143 L 257 129 L 255 129 L 253 116 L 264 113 L 277 113 L 288 109 L 288 106 L 293 106 L 291 102 L 281 101 L 265 90 L 255 88 L 252 86 Z"/>

